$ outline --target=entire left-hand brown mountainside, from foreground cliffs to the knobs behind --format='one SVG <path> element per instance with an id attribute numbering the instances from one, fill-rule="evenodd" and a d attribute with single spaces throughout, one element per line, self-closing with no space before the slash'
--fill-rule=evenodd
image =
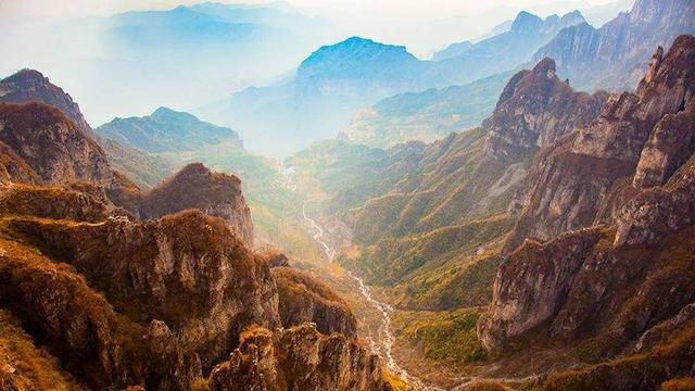
<path id="1" fill-rule="evenodd" d="M 190 164 L 140 191 L 49 103 L 67 94 L 17 83 L 37 74 L 10 81 L 39 101 L 0 102 L 3 388 L 392 389 L 342 298 L 252 250 L 237 176 Z"/>

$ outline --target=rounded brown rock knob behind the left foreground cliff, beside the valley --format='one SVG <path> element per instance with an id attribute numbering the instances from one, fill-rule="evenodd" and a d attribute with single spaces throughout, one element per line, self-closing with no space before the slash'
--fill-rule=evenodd
<path id="1" fill-rule="evenodd" d="M 189 164 L 144 194 L 140 214 L 156 218 L 187 209 L 223 218 L 248 245 L 253 244 L 251 211 L 238 176 L 213 173 L 201 163 Z"/>

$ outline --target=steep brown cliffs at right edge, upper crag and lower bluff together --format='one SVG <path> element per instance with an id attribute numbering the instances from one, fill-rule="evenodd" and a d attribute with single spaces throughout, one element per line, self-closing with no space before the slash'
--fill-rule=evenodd
<path id="1" fill-rule="evenodd" d="M 692 302 L 695 157 L 688 143 L 660 140 L 687 140 L 695 129 L 694 55 L 695 38 L 679 37 L 634 94 L 612 97 L 596 121 L 541 154 L 511 240 L 520 232 L 553 239 L 523 241 L 500 267 L 479 323 L 488 349 L 589 339 L 594 360 L 605 358 Z M 594 224 L 605 200 L 620 200 L 607 225 L 557 235 Z M 669 376 L 682 370 L 669 363 Z"/>

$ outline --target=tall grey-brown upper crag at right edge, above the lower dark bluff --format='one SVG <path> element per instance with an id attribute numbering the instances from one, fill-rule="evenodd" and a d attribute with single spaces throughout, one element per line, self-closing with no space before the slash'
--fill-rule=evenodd
<path id="1" fill-rule="evenodd" d="M 659 139 L 673 124 L 685 130 L 682 136 L 677 130 L 669 133 L 669 138 L 691 137 L 685 134 L 692 127 L 682 122 L 692 118 L 687 113 L 695 104 L 694 62 L 695 38 L 679 37 L 662 61 L 653 62 L 649 81 L 644 78 L 635 93 L 611 96 L 596 119 L 539 154 L 525 185 L 528 191 L 513 203 L 521 214 L 507 240 L 507 251 L 525 238 L 548 240 L 565 230 L 610 223 L 612 213 L 602 211 L 615 211 L 610 202 L 626 201 L 615 194 L 620 188 L 617 185 L 635 174 L 643 154 L 639 185 L 648 171 L 662 172 L 664 176 L 674 169 L 675 163 L 683 162 L 690 149 L 685 142 L 675 150 L 666 149 L 664 153 L 673 157 L 664 157 L 665 163 L 655 157 L 661 153 L 655 149 L 666 148 Z M 650 137 L 653 146 L 645 149 Z M 630 191 L 630 187 L 622 188 Z"/>

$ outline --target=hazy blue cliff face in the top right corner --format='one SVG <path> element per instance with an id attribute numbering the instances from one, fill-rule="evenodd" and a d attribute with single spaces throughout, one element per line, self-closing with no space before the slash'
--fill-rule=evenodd
<path id="1" fill-rule="evenodd" d="M 681 34 L 695 33 L 690 0 L 637 0 L 596 29 L 587 24 L 563 29 L 533 56 L 558 63 L 558 73 L 583 89 L 631 89 L 648 68 L 644 59 L 657 46 L 668 47 Z"/>

